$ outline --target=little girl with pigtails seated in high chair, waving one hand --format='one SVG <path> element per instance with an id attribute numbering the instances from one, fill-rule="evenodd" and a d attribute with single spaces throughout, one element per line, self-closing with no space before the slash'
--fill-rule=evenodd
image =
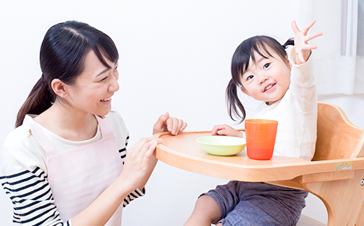
<path id="1" fill-rule="evenodd" d="M 232 80 L 227 88 L 230 117 L 245 119 L 237 87 L 262 101 L 253 118 L 279 121 L 274 155 L 311 160 L 316 143 L 317 100 L 307 41 L 321 32 L 307 35 L 315 21 L 302 31 L 293 21 L 294 47 L 286 54 L 288 40 L 280 45 L 274 38 L 255 36 L 243 41 L 232 57 Z M 217 125 L 212 135 L 240 136 L 228 125 Z M 296 225 L 307 192 L 267 183 L 230 181 L 197 199 L 187 225 Z"/>

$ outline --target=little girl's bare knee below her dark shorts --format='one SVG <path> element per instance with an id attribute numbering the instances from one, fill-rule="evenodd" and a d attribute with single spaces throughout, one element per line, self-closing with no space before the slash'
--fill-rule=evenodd
<path id="1" fill-rule="evenodd" d="M 222 217 L 220 208 L 214 199 L 203 195 L 195 204 L 195 209 L 184 226 L 211 226 Z M 221 223 L 218 224 L 222 226 Z"/>

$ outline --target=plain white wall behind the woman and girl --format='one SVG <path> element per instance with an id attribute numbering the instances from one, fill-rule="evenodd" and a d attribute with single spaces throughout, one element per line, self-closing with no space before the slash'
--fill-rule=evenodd
<path id="1" fill-rule="evenodd" d="M 224 97 L 232 53 L 241 41 L 256 34 L 274 36 L 282 43 L 293 36 L 290 22 L 296 19 L 297 6 L 297 0 L 279 4 L 269 0 L 4 1 L 0 8 L 0 145 L 41 76 L 38 52 L 52 24 L 80 20 L 116 42 L 120 91 L 113 106 L 127 122 L 132 146 L 151 135 L 153 123 L 166 111 L 186 120 L 188 131 L 234 125 Z M 360 117 L 364 96 L 320 100 L 341 106 L 354 124 L 364 127 Z M 183 225 L 200 193 L 226 182 L 159 162 L 146 197 L 125 208 L 123 225 Z M 325 222 L 322 202 L 310 196 L 307 206 L 304 213 Z M 11 216 L 10 199 L 0 192 L 1 225 L 11 225 Z"/>

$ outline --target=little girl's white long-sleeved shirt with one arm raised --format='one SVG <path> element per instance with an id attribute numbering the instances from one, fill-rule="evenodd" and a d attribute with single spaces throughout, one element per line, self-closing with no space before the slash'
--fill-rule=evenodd
<path id="1" fill-rule="evenodd" d="M 288 54 L 292 64 L 290 87 L 279 101 L 272 105 L 262 103 L 253 117 L 278 121 L 273 155 L 297 157 L 311 161 L 317 137 L 316 80 L 311 57 L 297 65 L 294 48 Z"/>

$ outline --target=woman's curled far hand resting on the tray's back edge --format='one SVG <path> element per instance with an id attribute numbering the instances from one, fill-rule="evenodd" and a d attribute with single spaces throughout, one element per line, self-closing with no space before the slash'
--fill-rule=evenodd
<path id="1" fill-rule="evenodd" d="M 153 134 L 159 132 L 170 132 L 172 135 L 177 135 L 179 132 L 186 129 L 187 123 L 183 122 L 183 120 L 169 117 L 169 113 L 165 113 L 164 115 L 160 115 L 157 122 L 155 122 L 153 126 Z"/>

